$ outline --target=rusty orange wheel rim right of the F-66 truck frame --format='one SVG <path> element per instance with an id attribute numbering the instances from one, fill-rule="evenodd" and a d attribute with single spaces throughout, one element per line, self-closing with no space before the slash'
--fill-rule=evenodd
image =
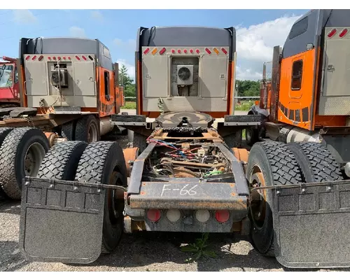
<path id="1" fill-rule="evenodd" d="M 264 175 L 258 165 L 253 167 L 249 185 L 251 188 L 251 218 L 255 228 L 261 229 L 266 217 L 266 190 L 254 190 L 254 188 L 266 185 Z"/>

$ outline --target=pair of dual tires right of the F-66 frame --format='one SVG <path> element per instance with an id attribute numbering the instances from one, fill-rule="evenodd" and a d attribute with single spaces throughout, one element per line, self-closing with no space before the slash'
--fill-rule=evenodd
<path id="1" fill-rule="evenodd" d="M 283 144 L 260 142 L 251 148 L 246 169 L 251 186 L 274 186 L 342 180 L 339 164 L 331 153 L 315 142 Z M 254 248 L 274 256 L 272 190 L 252 190 L 249 218 Z"/>

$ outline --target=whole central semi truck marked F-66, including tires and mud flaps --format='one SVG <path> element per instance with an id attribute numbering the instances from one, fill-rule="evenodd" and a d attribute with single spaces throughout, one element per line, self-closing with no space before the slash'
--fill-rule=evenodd
<path id="1" fill-rule="evenodd" d="M 235 57 L 233 27 L 141 27 L 137 115 L 111 117 L 134 131 L 132 147 L 52 147 L 42 168 L 59 156 L 60 172 L 23 181 L 22 252 L 31 260 L 89 263 L 118 250 L 122 232 L 231 232 L 250 236 L 286 267 L 348 267 L 339 239 L 324 237 L 336 229 L 342 244 L 350 241 L 343 236 L 349 211 L 333 215 L 328 207 L 332 195 L 346 197 L 349 182 L 307 184 L 282 143 L 241 148 L 242 130 L 262 118 L 234 115 Z M 223 120 L 214 127 L 215 118 Z M 320 196 L 325 208 L 310 208 Z M 317 241 L 337 248 L 331 258 L 320 255 Z"/>

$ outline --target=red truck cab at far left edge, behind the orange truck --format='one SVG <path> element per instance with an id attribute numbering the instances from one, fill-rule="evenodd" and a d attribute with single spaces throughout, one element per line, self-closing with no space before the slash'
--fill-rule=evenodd
<path id="1" fill-rule="evenodd" d="M 0 108 L 20 106 L 17 59 L 2 57 L 0 62 Z"/>

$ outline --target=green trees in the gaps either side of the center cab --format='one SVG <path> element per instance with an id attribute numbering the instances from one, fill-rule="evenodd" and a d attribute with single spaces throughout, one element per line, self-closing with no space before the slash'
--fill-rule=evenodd
<path id="1" fill-rule="evenodd" d="M 127 67 L 124 64 L 119 69 L 119 84 L 124 86 L 125 97 L 136 97 L 134 79 L 127 74 Z M 240 97 L 258 97 L 260 80 L 236 80 L 236 91 Z"/>

